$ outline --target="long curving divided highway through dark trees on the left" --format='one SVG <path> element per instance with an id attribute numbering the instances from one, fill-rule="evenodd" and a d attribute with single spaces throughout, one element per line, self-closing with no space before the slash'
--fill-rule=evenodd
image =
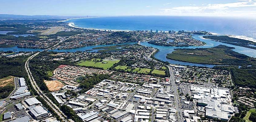
<path id="1" fill-rule="evenodd" d="M 60 43 L 62 43 L 65 39 L 64 37 L 63 38 L 59 38 L 61 41 L 59 41 L 56 45 L 52 46 L 51 48 L 59 45 Z M 48 49 L 45 49 L 43 51 L 46 51 L 46 50 L 49 50 L 51 48 L 48 48 Z M 43 52 L 41 51 L 41 52 Z M 46 95 L 44 95 L 43 91 L 40 90 L 40 88 L 38 87 L 38 85 L 36 84 L 36 81 L 34 80 L 34 77 L 32 76 L 32 73 L 29 69 L 29 60 L 33 59 L 35 56 L 37 56 L 40 52 L 37 52 L 35 53 L 34 55 L 30 56 L 26 63 L 25 63 L 25 69 L 26 69 L 26 72 L 29 76 L 29 81 L 31 82 L 32 84 L 32 87 L 36 90 L 37 94 L 41 96 L 41 98 L 44 99 L 45 102 L 47 102 L 47 104 L 49 106 L 51 106 L 51 108 L 58 114 L 58 116 L 63 119 L 65 122 L 67 122 L 68 120 L 66 119 L 66 116 L 62 113 L 62 111 L 59 109 L 58 106 L 56 106 Z"/>

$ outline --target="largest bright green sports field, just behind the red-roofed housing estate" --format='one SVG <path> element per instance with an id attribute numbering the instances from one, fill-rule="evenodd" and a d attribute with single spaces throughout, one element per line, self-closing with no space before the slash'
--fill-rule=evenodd
<path id="1" fill-rule="evenodd" d="M 98 62 L 100 59 L 97 59 L 97 61 L 94 61 L 92 59 L 91 61 L 82 61 L 78 62 L 79 66 L 95 66 L 95 67 L 101 67 L 104 70 L 109 69 L 111 66 L 113 66 L 114 63 L 118 63 L 119 59 L 113 59 L 113 60 L 104 60 L 102 62 Z"/>

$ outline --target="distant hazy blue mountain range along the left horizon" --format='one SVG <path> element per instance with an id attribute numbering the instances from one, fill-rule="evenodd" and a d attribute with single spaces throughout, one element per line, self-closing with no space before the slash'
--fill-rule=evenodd
<path id="1" fill-rule="evenodd" d="M 54 15 L 13 15 L 13 14 L 0 14 L 0 20 L 41 20 L 41 19 L 72 19 L 72 18 L 84 18 L 93 16 L 54 16 Z"/>

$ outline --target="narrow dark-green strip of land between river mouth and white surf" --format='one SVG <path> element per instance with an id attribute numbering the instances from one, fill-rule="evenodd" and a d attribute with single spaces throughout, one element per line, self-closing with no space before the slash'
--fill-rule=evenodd
<path id="1" fill-rule="evenodd" d="M 244 40 L 244 39 L 232 38 L 229 36 L 203 36 L 203 38 L 212 39 L 213 41 L 220 41 L 226 44 L 256 49 L 255 42 Z"/>

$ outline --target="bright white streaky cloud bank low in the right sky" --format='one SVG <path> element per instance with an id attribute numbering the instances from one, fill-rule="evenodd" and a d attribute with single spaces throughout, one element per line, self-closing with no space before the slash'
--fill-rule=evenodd
<path id="1" fill-rule="evenodd" d="M 180 6 L 160 9 L 161 15 L 177 16 L 254 16 L 256 11 L 246 7 L 256 6 L 255 0 L 239 0 L 234 3 L 225 4 L 202 4 L 202 6 Z M 246 9 L 236 9 L 244 7 Z M 233 9 L 232 9 L 233 8 Z"/>

